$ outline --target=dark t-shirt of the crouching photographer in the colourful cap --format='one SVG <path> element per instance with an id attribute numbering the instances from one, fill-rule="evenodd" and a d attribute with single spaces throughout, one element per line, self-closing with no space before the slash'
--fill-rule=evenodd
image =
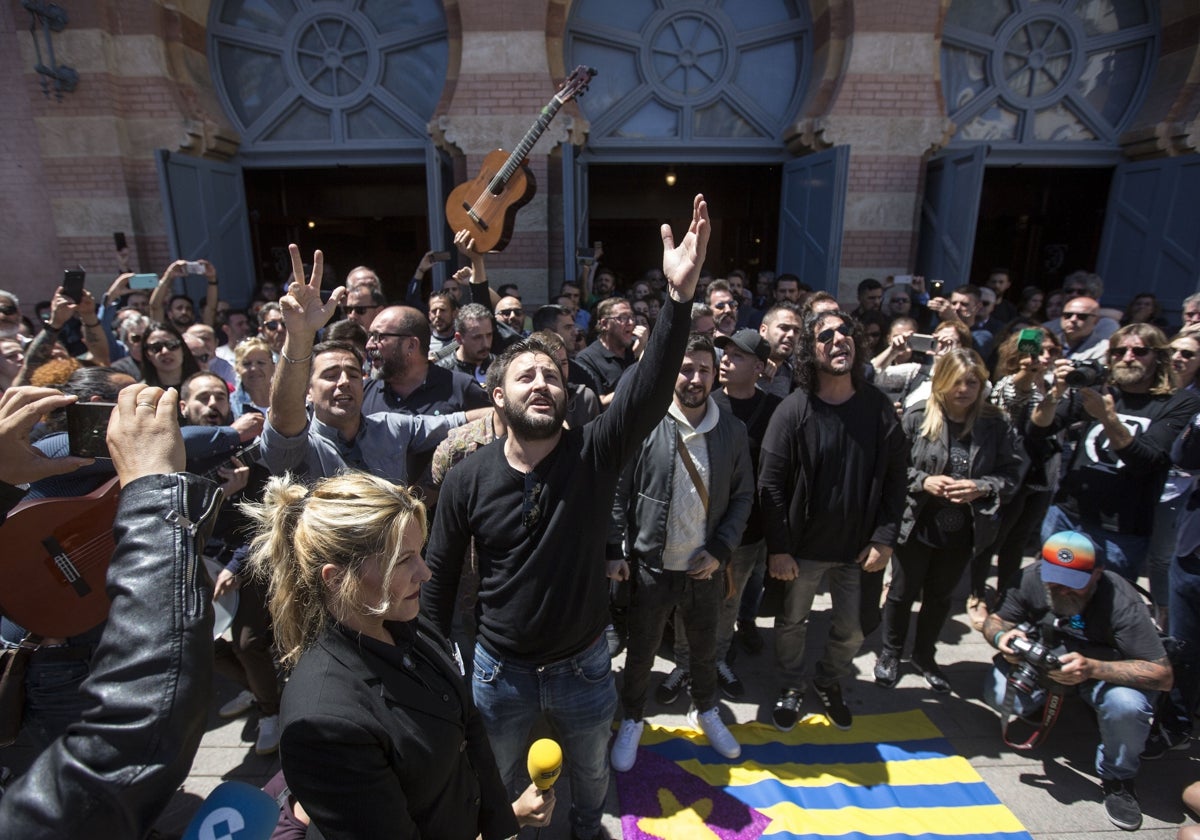
<path id="1" fill-rule="evenodd" d="M 1062 616 L 1049 632 L 1044 619 L 1050 613 L 1050 601 L 1042 582 L 1042 560 L 1021 571 L 1020 584 L 1007 590 L 997 613 L 1006 622 L 1037 625 L 1050 647 L 1062 644 L 1092 659 L 1154 662 L 1166 655 L 1145 602 L 1124 578 L 1111 571 L 1105 571 L 1097 582 L 1082 613 Z"/>

